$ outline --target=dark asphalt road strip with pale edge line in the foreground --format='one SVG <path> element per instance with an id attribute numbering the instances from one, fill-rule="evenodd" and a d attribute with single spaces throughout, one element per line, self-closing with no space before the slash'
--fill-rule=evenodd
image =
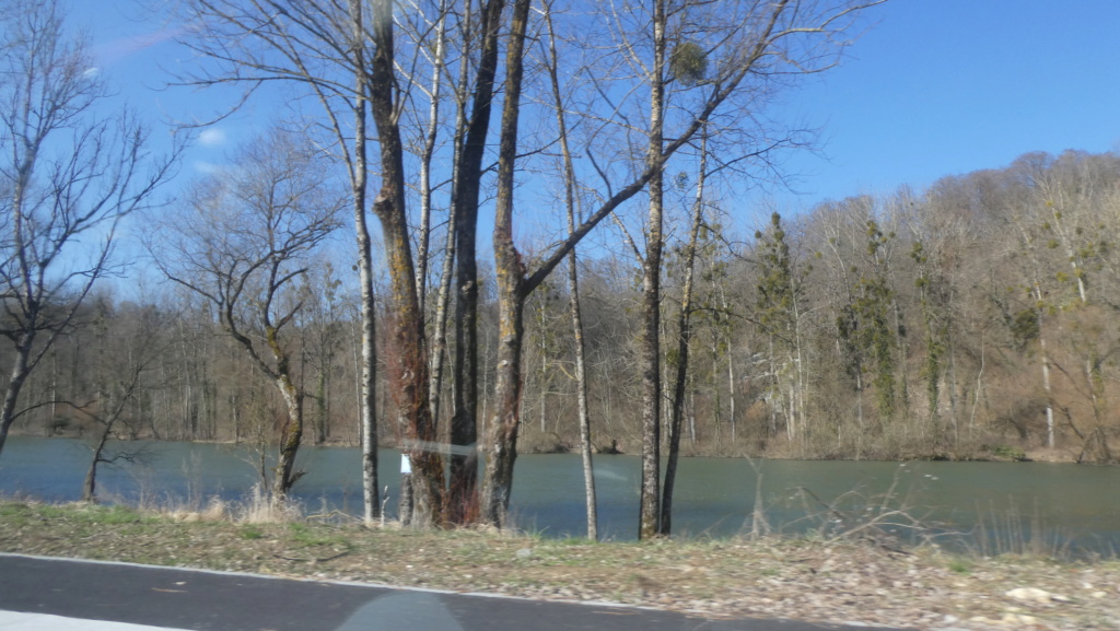
<path id="1" fill-rule="evenodd" d="M 0 555 L 0 610 L 214 631 L 855 629 L 18 555 Z"/>

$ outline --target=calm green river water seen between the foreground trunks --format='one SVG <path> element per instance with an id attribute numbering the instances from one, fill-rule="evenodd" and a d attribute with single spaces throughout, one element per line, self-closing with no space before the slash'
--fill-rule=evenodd
<path id="1" fill-rule="evenodd" d="M 136 448 L 138 444 L 125 444 Z M 100 494 L 109 500 L 190 501 L 213 495 L 236 500 L 255 482 L 248 449 L 228 445 L 141 443 L 147 463 L 102 467 Z M 307 471 L 296 495 L 309 510 L 361 511 L 360 453 L 356 448 L 308 447 L 299 466 Z M 85 443 L 72 439 L 10 438 L 0 456 L 0 493 L 45 500 L 75 500 L 88 464 Z M 632 539 L 637 530 L 638 461 L 598 456 L 599 531 Z M 381 452 L 381 483 L 395 510 L 400 454 Z M 1120 553 L 1120 467 L 1045 463 L 883 463 L 765 461 L 762 503 L 780 530 L 820 526 L 821 505 L 799 488 L 836 502 L 847 517 L 867 514 L 892 485 L 890 508 L 908 507 L 933 527 L 998 537 L 1045 535 L 1107 554 Z M 730 458 L 685 458 L 674 493 L 673 531 L 681 536 L 729 536 L 749 530 L 756 475 L 749 463 Z M 517 457 L 511 512 L 514 523 L 545 535 L 585 533 L 584 477 L 577 455 Z M 874 511 L 871 511 L 874 512 Z M 1019 516 L 1016 518 L 1016 513 Z M 996 522 L 996 528 L 992 528 Z M 1010 523 L 1009 523 L 1010 522 Z M 833 525 L 839 527 L 839 525 Z M 1040 530 L 1039 530 L 1040 527 Z M 970 539 L 979 541 L 980 539 Z M 978 542 L 974 545 L 979 546 Z"/>

